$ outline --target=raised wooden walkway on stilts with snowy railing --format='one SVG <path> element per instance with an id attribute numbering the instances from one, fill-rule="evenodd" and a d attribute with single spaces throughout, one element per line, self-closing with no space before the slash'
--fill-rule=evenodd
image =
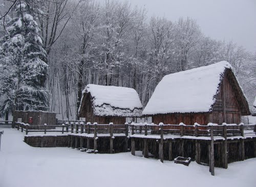
<path id="1" fill-rule="evenodd" d="M 49 137 L 52 132 L 59 132 L 67 137 L 68 147 L 81 151 L 97 153 L 98 150 L 103 150 L 102 152 L 114 153 L 114 150 L 120 149 L 121 152 L 131 150 L 131 153 L 135 155 L 136 150 L 141 150 L 144 157 L 147 158 L 150 153 L 154 153 L 161 162 L 166 157 L 172 161 L 177 155 L 189 156 L 194 158 L 198 164 L 208 163 L 212 175 L 214 175 L 215 165 L 227 168 L 228 162 L 256 157 L 255 124 L 125 123 L 114 125 L 113 123 L 72 122 L 52 125 L 56 129 L 48 129 L 49 127 L 50 125 L 42 125 L 41 129 L 29 129 L 28 124 L 16 123 L 16 128 L 26 131 L 26 135 L 32 132 L 44 132 L 41 137 Z M 118 141 L 115 142 L 115 139 Z M 44 145 L 43 138 L 41 138 L 41 145 Z M 189 155 L 194 153 L 195 155 Z M 218 164 L 215 164 L 215 159 Z"/>

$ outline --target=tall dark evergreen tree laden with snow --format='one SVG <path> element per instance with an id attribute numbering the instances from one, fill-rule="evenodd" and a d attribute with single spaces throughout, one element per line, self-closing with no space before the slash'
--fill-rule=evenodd
<path id="1" fill-rule="evenodd" d="M 40 29 L 25 3 L 18 3 L 13 11 L 16 17 L 9 17 L 7 34 L 1 39 L 0 112 L 47 110 L 45 79 L 48 65 Z"/>

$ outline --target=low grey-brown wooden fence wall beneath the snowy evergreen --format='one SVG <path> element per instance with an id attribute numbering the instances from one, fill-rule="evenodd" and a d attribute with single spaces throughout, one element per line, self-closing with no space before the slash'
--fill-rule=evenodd
<path id="1" fill-rule="evenodd" d="M 48 125 L 56 124 L 56 113 L 41 112 L 41 111 L 15 111 L 13 121 L 16 122 L 18 118 L 22 118 L 23 123 L 29 123 L 29 117 L 33 118 L 31 125 Z"/>

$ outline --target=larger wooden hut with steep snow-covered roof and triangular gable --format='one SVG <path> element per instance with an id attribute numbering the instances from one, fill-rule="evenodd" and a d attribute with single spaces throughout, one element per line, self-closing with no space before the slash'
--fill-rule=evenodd
<path id="1" fill-rule="evenodd" d="M 164 76 L 142 114 L 156 124 L 238 124 L 250 110 L 231 65 L 221 61 Z"/>

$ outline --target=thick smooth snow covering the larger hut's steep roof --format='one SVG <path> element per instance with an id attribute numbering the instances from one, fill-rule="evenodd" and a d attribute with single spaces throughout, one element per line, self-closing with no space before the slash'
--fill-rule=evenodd
<path id="1" fill-rule="evenodd" d="M 165 75 L 148 101 L 143 115 L 210 112 L 219 93 L 226 61 Z"/>

